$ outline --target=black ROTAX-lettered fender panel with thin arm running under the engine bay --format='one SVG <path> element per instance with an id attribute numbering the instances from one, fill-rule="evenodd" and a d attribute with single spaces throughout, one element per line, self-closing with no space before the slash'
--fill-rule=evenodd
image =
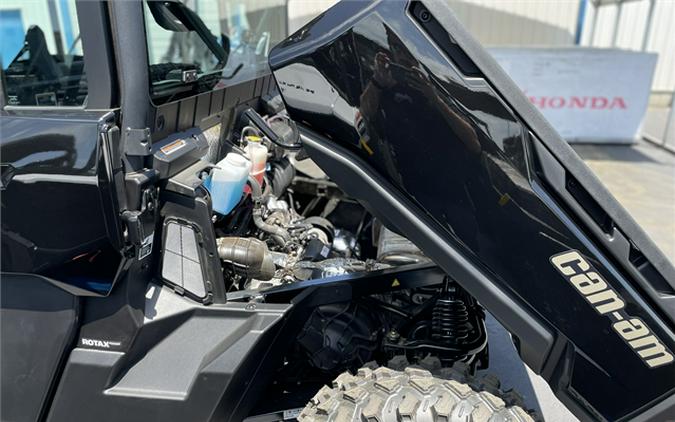
<path id="1" fill-rule="evenodd" d="M 433 265 L 392 268 L 243 291 L 202 306 L 167 286 L 144 289 L 148 274 L 137 266 L 127 274 L 110 296 L 83 300 L 77 347 L 48 421 L 241 421 L 269 405 L 262 392 L 317 306 L 391 291 L 394 280 L 405 289 L 445 276 Z M 253 296 L 264 303 L 245 301 Z"/>

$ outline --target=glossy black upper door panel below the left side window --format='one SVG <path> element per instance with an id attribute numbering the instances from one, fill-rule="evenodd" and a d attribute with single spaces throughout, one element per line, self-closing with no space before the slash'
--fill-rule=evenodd
<path id="1" fill-rule="evenodd" d="M 112 287 L 121 230 L 103 153 L 106 119 L 84 111 L 0 117 L 2 164 L 13 168 L 1 199 L 3 272 L 54 276 L 96 293 Z M 96 253 L 105 264 L 87 277 L 84 261 Z"/>

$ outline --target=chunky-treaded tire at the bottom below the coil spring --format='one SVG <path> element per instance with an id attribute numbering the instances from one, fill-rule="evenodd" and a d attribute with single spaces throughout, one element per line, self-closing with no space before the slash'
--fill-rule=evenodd
<path id="1" fill-rule="evenodd" d="M 319 390 L 300 412 L 298 421 L 534 421 L 516 404 L 518 400 L 522 402 L 517 394 L 509 392 L 504 399 L 498 397 L 501 392 L 496 378 L 467 380 L 466 371 L 460 369 L 444 373 L 459 374 L 463 378 L 460 380 L 435 378 L 431 372 L 418 368 L 361 368 L 356 375 L 345 372 L 333 381 L 332 388 L 324 386 Z"/>

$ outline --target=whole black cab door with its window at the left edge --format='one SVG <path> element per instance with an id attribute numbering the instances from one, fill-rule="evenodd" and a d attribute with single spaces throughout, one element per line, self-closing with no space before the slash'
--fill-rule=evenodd
<path id="1" fill-rule="evenodd" d="M 24 35 L 3 42 L 0 90 L 0 419 L 32 421 L 73 346 L 80 297 L 107 295 L 123 262 L 121 165 L 103 5 L 17 9 Z M 16 30 L 0 18 L 0 33 Z"/>

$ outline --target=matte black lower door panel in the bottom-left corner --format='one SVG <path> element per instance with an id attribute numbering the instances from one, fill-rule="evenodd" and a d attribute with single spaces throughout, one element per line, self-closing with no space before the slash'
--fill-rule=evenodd
<path id="1" fill-rule="evenodd" d="M 0 299 L 0 419 L 37 421 L 75 339 L 79 299 L 30 275 L 3 275 Z"/>

